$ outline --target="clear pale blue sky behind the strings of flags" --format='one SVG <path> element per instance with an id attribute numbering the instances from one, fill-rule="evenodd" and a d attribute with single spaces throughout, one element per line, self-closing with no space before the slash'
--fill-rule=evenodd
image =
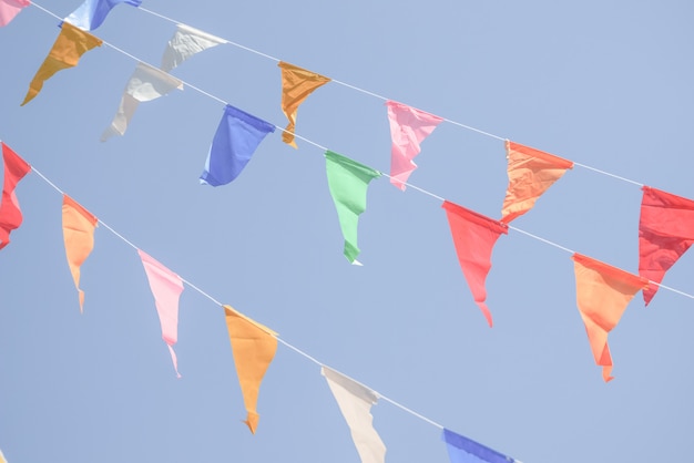
<path id="1" fill-rule="evenodd" d="M 39 4 L 63 18 L 80 3 Z M 610 335 L 615 379 L 604 383 L 567 249 L 636 272 L 639 185 L 694 198 L 690 1 L 142 7 L 269 58 L 231 44 L 193 56 L 172 71 L 183 92 L 142 103 L 125 135 L 102 143 L 133 56 L 159 65 L 175 25 L 116 7 L 93 33 L 131 56 L 90 51 L 20 107 L 59 32 L 29 7 L 0 29 L 0 138 L 213 299 L 433 423 L 381 399 L 371 412 L 388 462 L 448 462 L 438 425 L 525 463 L 686 459 L 694 300 L 661 289 L 645 308 L 636 295 Z M 498 137 L 580 164 L 513 222 L 541 239 L 510 230 L 494 247 L 492 329 L 436 197 L 374 181 L 356 267 L 341 254 L 315 145 L 294 150 L 277 130 L 232 184 L 198 184 L 224 105 L 190 85 L 284 127 L 273 58 L 372 93 L 318 89 L 296 132 L 385 173 L 380 96 L 492 134 L 441 123 L 410 177 L 489 217 L 508 183 Z M 224 312 L 190 286 L 176 379 L 137 253 L 103 225 L 82 267 L 80 315 L 60 194 L 31 173 L 17 195 L 24 222 L 0 250 L 0 449 L 10 463 L 359 461 L 320 367 L 285 344 L 248 432 Z M 692 275 L 685 254 L 663 284 L 693 295 Z"/>

